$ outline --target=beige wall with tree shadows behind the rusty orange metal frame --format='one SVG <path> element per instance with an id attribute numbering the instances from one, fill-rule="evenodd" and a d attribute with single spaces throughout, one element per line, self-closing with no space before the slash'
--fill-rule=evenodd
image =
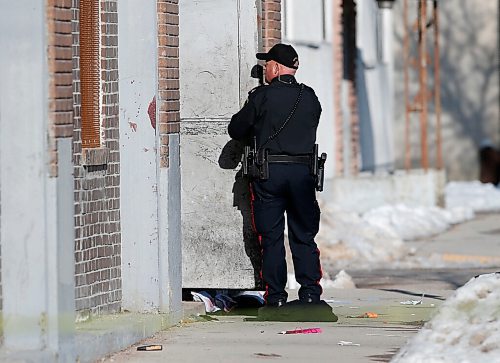
<path id="1" fill-rule="evenodd" d="M 416 3 L 409 1 L 415 16 Z M 403 17 L 402 1 L 395 5 L 396 155 L 404 164 Z M 441 97 L 443 158 L 451 180 L 479 176 L 478 147 L 489 139 L 500 146 L 498 0 L 440 1 Z M 432 37 L 429 38 L 432 40 Z M 432 81 L 432 72 L 431 81 Z M 418 76 L 412 78 L 415 89 Z M 432 84 L 432 83 L 431 83 Z M 432 111 L 432 110 L 431 110 Z M 416 115 L 415 115 L 416 116 Z M 429 115 L 429 156 L 435 159 L 435 118 Z M 418 116 L 412 119 L 412 160 L 419 165 Z"/>

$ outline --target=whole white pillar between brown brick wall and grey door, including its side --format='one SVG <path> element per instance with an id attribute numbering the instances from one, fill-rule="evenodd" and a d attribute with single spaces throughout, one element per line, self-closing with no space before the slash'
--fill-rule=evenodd
<path id="1" fill-rule="evenodd" d="M 155 130 L 148 115 L 159 92 L 157 3 L 120 1 L 118 18 L 122 306 L 167 313 L 177 322 L 182 317 L 179 135 L 170 135 L 170 165 L 160 168 L 158 124 Z"/>

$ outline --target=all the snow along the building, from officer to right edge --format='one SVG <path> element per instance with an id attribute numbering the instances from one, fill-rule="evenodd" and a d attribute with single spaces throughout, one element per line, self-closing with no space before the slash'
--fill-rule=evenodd
<path id="1" fill-rule="evenodd" d="M 404 241 L 442 233 L 454 224 L 473 219 L 475 212 L 500 211 L 500 189 L 478 181 L 450 182 L 445 187 L 445 201 L 446 209 L 396 204 L 359 215 L 320 199 L 321 224 L 316 242 L 322 261 L 335 268 L 352 266 L 354 261 L 369 267 L 401 262 L 413 267 L 440 263 L 439 256 L 432 261 L 408 259 L 413 251 Z"/>

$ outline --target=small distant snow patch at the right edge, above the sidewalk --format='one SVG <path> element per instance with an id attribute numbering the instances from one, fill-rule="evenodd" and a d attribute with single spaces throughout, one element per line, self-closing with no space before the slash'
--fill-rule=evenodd
<path id="1" fill-rule="evenodd" d="M 450 182 L 445 188 L 446 208 L 468 207 L 475 212 L 500 211 L 500 189 L 493 184 Z"/>

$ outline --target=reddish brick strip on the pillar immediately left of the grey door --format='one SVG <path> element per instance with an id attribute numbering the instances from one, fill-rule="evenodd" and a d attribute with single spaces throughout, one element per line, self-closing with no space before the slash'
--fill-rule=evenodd
<path id="1" fill-rule="evenodd" d="M 158 101 L 160 167 L 169 165 L 169 134 L 180 131 L 179 5 L 178 0 L 157 0 Z"/>

